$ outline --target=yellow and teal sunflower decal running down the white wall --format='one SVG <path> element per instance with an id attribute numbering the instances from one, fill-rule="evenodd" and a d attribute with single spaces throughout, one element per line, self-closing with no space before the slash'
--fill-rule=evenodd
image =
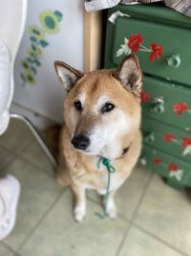
<path id="1" fill-rule="evenodd" d="M 28 49 L 27 57 L 21 59 L 22 72 L 20 76 L 23 85 L 26 83 L 35 84 L 37 69 L 43 60 L 43 49 L 49 46 L 47 35 L 54 35 L 59 32 L 61 20 L 61 12 L 44 11 L 39 15 L 40 24 L 33 24 L 30 27 L 31 47 Z"/>

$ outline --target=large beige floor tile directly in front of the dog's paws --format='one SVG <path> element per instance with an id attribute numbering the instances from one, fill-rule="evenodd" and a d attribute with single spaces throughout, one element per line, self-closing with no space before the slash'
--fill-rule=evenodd
<path id="1" fill-rule="evenodd" d="M 73 198 L 70 190 L 64 193 L 53 210 L 38 226 L 21 249 L 22 256 L 113 256 L 124 237 L 127 223 L 109 219 L 100 220 L 100 207 L 88 201 L 86 218 L 76 223 L 72 214 Z"/>

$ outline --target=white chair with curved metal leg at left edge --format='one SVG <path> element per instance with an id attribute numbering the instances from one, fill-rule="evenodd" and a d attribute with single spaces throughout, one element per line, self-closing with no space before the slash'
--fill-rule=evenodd
<path id="1" fill-rule="evenodd" d="M 32 130 L 42 149 L 56 165 L 52 152 L 32 122 L 24 116 L 10 113 L 13 97 L 13 65 L 24 33 L 28 0 L 0 0 L 0 135 L 11 118 L 20 119 Z"/>

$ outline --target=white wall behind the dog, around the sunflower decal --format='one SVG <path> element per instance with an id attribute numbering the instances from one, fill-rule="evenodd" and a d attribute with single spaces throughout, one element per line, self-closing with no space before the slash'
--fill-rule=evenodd
<path id="1" fill-rule="evenodd" d="M 51 121 L 62 122 L 65 92 L 55 75 L 53 61 L 62 60 L 83 70 L 83 9 L 82 0 L 29 0 L 26 29 L 14 66 L 15 91 L 11 109 L 25 113 L 38 128 L 45 128 Z M 43 60 L 37 68 L 35 84 L 23 85 L 21 59 L 27 57 L 31 47 L 29 28 L 33 24 L 40 25 L 39 14 L 44 11 L 62 12 L 59 32 L 46 35 L 49 45 L 42 49 Z M 49 122 L 43 121 L 45 119 Z"/>

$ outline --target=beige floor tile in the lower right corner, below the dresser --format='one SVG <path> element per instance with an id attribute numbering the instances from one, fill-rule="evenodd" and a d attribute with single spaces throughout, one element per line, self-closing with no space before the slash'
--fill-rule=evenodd
<path id="1" fill-rule="evenodd" d="M 188 195 L 167 186 L 155 175 L 138 209 L 136 223 L 190 255 L 190 214 Z"/>

